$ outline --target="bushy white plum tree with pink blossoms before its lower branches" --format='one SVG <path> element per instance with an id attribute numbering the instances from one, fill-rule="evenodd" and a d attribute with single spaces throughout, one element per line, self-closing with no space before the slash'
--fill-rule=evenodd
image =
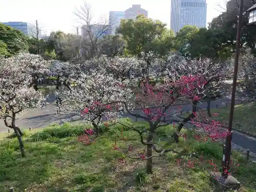
<path id="1" fill-rule="evenodd" d="M 91 123 L 96 135 L 101 121 L 119 118 L 123 109 L 120 102 L 127 102 L 133 96 L 127 81 L 117 80 L 104 72 L 82 73 L 76 82 L 77 87 L 72 92 L 57 92 L 62 99 L 62 111 Z"/>

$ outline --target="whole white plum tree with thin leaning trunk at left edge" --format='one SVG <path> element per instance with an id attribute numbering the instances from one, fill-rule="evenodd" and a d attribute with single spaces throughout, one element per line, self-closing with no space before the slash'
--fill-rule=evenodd
<path id="1" fill-rule="evenodd" d="M 16 119 L 27 110 L 39 108 L 46 100 L 41 92 L 29 88 L 33 76 L 28 75 L 32 61 L 30 55 L 27 56 L 0 58 L 0 117 L 7 127 L 14 130 L 23 157 L 23 134 L 16 124 Z M 18 58 L 20 60 L 17 60 Z"/>

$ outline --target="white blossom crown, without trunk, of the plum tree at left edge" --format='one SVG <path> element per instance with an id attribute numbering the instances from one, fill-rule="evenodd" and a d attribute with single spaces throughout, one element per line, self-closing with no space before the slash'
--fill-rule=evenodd
<path id="1" fill-rule="evenodd" d="M 45 97 L 41 92 L 29 88 L 32 73 L 44 73 L 40 69 L 46 64 L 39 56 L 20 54 L 11 58 L 0 58 L 0 106 L 2 117 L 17 118 L 21 112 L 38 108 Z M 40 71 L 41 70 L 41 71 Z M 39 71 L 39 72 L 38 72 Z"/>

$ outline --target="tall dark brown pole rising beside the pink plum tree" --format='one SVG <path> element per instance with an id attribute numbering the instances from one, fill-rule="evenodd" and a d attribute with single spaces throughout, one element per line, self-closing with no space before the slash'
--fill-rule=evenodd
<path id="1" fill-rule="evenodd" d="M 236 97 L 236 89 L 237 89 L 238 62 L 239 62 L 239 54 L 240 54 L 240 40 L 241 40 L 240 33 L 241 33 L 241 29 L 242 29 L 243 6 L 244 6 L 244 0 L 240 0 L 236 55 L 234 57 L 233 87 L 232 87 L 230 114 L 229 114 L 229 121 L 228 121 L 228 131 L 231 134 L 229 136 L 227 136 L 227 138 L 226 138 L 225 156 L 223 154 L 223 163 L 222 163 L 222 168 L 223 168 L 222 176 L 224 176 L 224 177 L 227 177 L 227 174 L 225 174 L 225 169 L 229 170 L 229 162 L 230 162 L 230 155 L 231 155 L 232 123 L 233 123 L 234 104 L 235 104 L 234 99 Z"/>

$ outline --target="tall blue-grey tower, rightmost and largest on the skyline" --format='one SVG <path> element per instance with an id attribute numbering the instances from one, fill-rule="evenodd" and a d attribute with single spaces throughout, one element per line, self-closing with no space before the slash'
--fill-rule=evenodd
<path id="1" fill-rule="evenodd" d="M 171 6 L 170 26 L 175 33 L 186 25 L 206 27 L 206 0 L 172 0 Z"/>

